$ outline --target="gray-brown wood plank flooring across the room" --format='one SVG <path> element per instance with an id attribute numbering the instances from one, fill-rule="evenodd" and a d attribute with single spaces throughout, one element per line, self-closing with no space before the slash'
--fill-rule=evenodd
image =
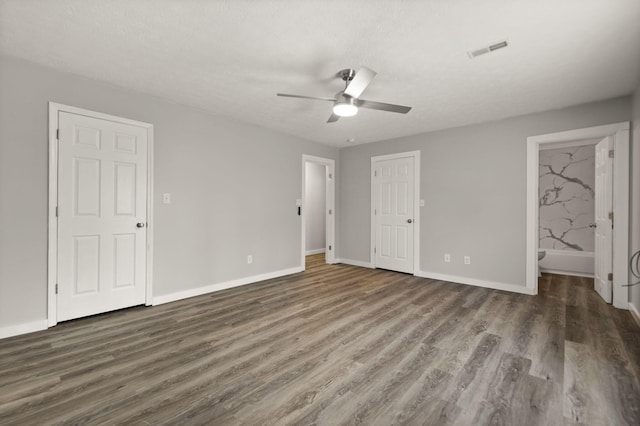
<path id="1" fill-rule="evenodd" d="M 540 294 L 325 265 L 0 340 L 0 424 L 640 425 L 640 328 Z"/>

